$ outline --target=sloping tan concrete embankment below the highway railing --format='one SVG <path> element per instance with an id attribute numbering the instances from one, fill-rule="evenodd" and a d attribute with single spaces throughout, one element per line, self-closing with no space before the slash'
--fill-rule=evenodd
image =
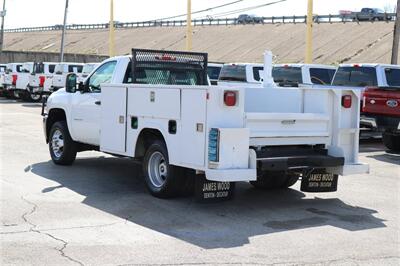
<path id="1" fill-rule="evenodd" d="M 389 63 L 394 23 L 321 23 L 314 25 L 314 62 Z M 185 27 L 151 27 L 116 30 L 116 54 L 131 48 L 184 50 Z M 271 50 L 277 63 L 304 60 L 306 25 L 265 24 L 193 27 L 193 51 L 207 52 L 210 61 L 262 62 Z M 61 31 L 6 33 L 5 49 L 57 52 Z M 108 53 L 107 30 L 70 30 L 66 52 Z"/>

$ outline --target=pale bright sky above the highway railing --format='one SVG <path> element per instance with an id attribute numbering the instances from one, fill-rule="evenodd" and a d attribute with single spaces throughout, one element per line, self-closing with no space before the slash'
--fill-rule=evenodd
<path id="1" fill-rule="evenodd" d="M 2 3 L 4 0 L 0 0 Z M 235 0 L 192 0 L 192 11 Z M 198 14 L 194 18 L 257 6 L 276 0 L 242 0 L 224 8 Z M 114 0 L 115 21 L 154 20 L 186 13 L 187 0 Z M 358 11 L 362 7 L 394 9 L 397 0 L 314 0 L 314 14 L 337 14 L 339 10 Z M 106 23 L 110 0 L 69 0 L 68 24 Z M 6 0 L 5 28 L 50 26 L 63 23 L 65 0 Z M 244 13 L 258 16 L 305 15 L 307 0 L 286 0 Z M 230 15 L 236 17 L 238 14 Z M 225 16 L 224 16 L 225 17 Z M 180 18 L 179 18 L 180 19 Z"/>

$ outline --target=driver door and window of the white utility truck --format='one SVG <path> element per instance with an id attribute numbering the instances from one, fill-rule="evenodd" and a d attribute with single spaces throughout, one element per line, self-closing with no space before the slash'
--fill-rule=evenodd
<path id="1" fill-rule="evenodd" d="M 86 91 L 73 95 L 71 121 L 75 141 L 100 146 L 100 84 L 111 83 L 116 65 L 117 61 L 104 63 L 86 80 Z"/>

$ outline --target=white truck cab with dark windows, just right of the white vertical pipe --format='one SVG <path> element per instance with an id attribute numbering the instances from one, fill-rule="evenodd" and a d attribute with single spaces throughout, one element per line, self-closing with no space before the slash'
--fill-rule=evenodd
<path id="1" fill-rule="evenodd" d="M 337 67 L 316 64 L 278 64 L 272 77 L 278 86 L 293 87 L 299 84 L 330 85 Z"/>

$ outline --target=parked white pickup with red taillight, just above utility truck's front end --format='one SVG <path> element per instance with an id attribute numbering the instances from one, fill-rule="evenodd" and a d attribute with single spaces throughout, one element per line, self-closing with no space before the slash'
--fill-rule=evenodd
<path id="1" fill-rule="evenodd" d="M 32 75 L 29 78 L 29 90 L 31 94 L 43 95 L 51 93 L 53 75 L 58 63 L 36 63 Z"/>

